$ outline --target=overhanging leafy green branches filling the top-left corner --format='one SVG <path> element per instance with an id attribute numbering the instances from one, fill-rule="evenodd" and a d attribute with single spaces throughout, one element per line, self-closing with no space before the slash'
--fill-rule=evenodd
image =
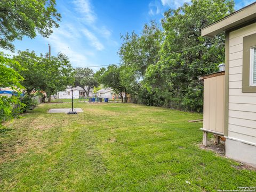
<path id="1" fill-rule="evenodd" d="M 0 47 L 13 51 L 15 39 L 35 38 L 37 32 L 49 37 L 61 18 L 55 5 L 55 0 L 1 0 Z"/>

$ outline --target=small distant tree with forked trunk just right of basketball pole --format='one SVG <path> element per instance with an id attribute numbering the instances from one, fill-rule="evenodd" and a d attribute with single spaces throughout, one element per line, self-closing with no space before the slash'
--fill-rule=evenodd
<path id="1" fill-rule="evenodd" d="M 89 68 L 75 69 L 75 86 L 84 89 L 86 96 L 89 96 L 90 90 L 98 86 L 98 81 L 94 76 L 93 70 Z"/>

